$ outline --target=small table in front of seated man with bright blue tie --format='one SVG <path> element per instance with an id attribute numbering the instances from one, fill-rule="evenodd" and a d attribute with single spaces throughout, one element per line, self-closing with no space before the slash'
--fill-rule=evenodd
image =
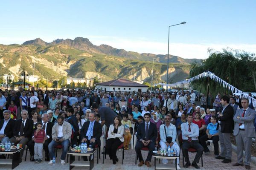
<path id="1" fill-rule="evenodd" d="M 70 154 L 70 170 L 75 166 L 80 167 L 89 167 L 90 170 L 94 167 L 94 153 L 96 149 L 87 153 L 76 153 L 74 151 L 69 151 L 67 154 Z M 89 161 L 75 161 L 75 156 L 89 156 Z"/>

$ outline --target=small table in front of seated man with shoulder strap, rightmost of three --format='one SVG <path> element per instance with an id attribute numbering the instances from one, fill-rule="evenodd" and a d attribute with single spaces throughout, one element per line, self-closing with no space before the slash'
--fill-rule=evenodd
<path id="1" fill-rule="evenodd" d="M 161 156 L 158 153 L 153 153 L 153 157 L 154 157 L 154 167 L 155 170 L 177 170 L 177 159 L 179 158 L 179 156 Z M 175 164 L 157 164 L 156 165 L 156 159 L 174 159 L 175 160 Z"/>

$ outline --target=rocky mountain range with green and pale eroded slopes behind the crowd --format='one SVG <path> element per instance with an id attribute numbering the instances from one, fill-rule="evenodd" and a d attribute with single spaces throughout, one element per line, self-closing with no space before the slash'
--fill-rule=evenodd
<path id="1" fill-rule="evenodd" d="M 0 45 L 0 75 L 11 72 L 19 76 L 25 71 L 43 78 L 57 77 L 93 78 L 102 81 L 127 78 L 151 82 L 152 59 L 154 82 L 166 81 L 166 55 L 139 54 L 116 49 L 109 45 L 93 45 L 87 38 L 74 40 L 57 39 L 44 42 L 40 38 L 24 42 L 22 45 Z M 163 63 L 161 63 L 163 62 Z M 188 77 L 192 59 L 170 56 L 169 82 Z M 201 60 L 195 59 L 195 62 Z"/>

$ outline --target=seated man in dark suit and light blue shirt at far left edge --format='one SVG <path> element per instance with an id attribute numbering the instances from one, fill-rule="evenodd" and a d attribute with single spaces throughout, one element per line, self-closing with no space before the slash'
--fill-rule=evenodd
<path id="1" fill-rule="evenodd" d="M 3 111 L 4 119 L 0 120 L 0 142 L 9 142 L 15 133 L 16 121 L 11 119 L 11 111 Z"/>

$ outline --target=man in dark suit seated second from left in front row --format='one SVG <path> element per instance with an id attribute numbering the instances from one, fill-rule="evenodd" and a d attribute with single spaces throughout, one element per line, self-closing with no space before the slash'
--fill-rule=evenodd
<path id="1" fill-rule="evenodd" d="M 22 110 L 20 114 L 22 119 L 17 120 L 15 134 L 14 134 L 14 137 L 10 139 L 10 141 L 15 144 L 17 143 L 22 144 L 23 149 L 20 151 L 20 161 L 21 161 L 25 146 L 32 137 L 34 122 L 32 119 L 28 119 L 28 116 L 29 116 L 28 111 Z"/>

